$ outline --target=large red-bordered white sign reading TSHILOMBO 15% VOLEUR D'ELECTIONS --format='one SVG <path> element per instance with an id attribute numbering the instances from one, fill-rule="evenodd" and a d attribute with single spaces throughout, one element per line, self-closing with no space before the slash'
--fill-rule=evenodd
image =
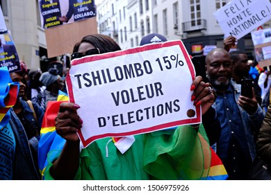
<path id="1" fill-rule="evenodd" d="M 129 136 L 200 123 L 191 101 L 195 69 L 181 40 L 72 60 L 69 100 L 79 104 L 86 147 L 106 136 Z"/>

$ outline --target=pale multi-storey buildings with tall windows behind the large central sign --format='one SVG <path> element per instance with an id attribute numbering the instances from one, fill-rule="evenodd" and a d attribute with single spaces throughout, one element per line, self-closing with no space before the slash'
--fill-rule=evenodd
<path id="1" fill-rule="evenodd" d="M 148 33 L 160 33 L 168 40 L 181 39 L 190 55 L 199 55 L 206 45 L 223 47 L 225 37 L 213 12 L 229 1 L 105 0 L 97 6 L 99 33 L 113 37 L 122 49 L 138 46 Z M 270 21 L 263 28 L 270 28 Z M 250 33 L 238 40 L 238 49 L 254 58 Z"/>

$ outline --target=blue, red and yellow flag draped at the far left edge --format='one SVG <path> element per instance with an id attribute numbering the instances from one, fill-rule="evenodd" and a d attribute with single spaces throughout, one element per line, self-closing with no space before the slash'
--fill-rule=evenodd
<path id="1" fill-rule="evenodd" d="M 0 129 L 10 120 L 10 107 L 13 107 L 19 92 L 19 82 L 13 82 L 8 67 L 0 67 Z"/>

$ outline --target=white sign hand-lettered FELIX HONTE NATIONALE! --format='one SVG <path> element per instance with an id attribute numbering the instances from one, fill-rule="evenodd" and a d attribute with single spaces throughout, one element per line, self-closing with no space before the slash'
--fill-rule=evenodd
<path id="1" fill-rule="evenodd" d="M 271 19 L 269 0 L 233 0 L 213 13 L 225 37 L 240 39 Z"/>

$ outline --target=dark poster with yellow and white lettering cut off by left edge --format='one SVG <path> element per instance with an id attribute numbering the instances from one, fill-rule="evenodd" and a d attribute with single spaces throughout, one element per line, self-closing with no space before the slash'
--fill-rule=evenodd
<path id="1" fill-rule="evenodd" d="M 0 34 L 0 67 L 8 67 L 10 73 L 21 69 L 19 55 L 17 54 L 10 31 Z"/>

